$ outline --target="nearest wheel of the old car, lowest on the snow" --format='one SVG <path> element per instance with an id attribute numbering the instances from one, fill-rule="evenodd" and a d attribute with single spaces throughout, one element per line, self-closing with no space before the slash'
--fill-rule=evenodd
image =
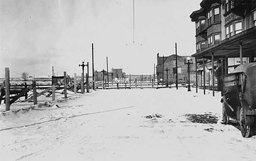
<path id="1" fill-rule="evenodd" d="M 245 124 L 245 114 L 243 113 L 243 108 L 238 107 L 238 109 L 240 109 L 239 124 L 240 124 L 240 128 L 241 128 L 241 134 L 244 138 L 252 137 L 253 127 Z"/>

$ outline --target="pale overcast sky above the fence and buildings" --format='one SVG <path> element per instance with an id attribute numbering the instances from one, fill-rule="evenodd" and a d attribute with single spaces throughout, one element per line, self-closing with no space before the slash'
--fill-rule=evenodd
<path id="1" fill-rule="evenodd" d="M 95 48 L 95 70 L 123 68 L 152 74 L 156 54 L 195 53 L 195 23 L 189 15 L 201 0 L 0 0 L 0 77 L 82 73 Z"/>

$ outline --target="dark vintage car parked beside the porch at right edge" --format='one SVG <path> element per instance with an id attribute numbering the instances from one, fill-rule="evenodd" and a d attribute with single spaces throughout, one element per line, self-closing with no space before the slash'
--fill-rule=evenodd
<path id="1" fill-rule="evenodd" d="M 242 64 L 222 77 L 223 123 L 239 123 L 242 136 L 256 133 L 256 63 Z"/>

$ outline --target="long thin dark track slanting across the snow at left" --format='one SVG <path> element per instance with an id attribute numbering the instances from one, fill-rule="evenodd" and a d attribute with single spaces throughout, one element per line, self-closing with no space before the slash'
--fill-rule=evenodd
<path id="1" fill-rule="evenodd" d="M 68 116 L 68 117 L 59 117 L 59 118 L 54 119 L 54 120 L 48 120 L 48 121 L 43 121 L 43 122 L 38 122 L 38 123 L 32 123 L 32 124 L 30 124 L 30 125 L 17 126 L 17 127 L 9 127 L 9 128 L 2 128 L 2 129 L 0 129 L 0 132 L 1 132 L 1 131 L 6 131 L 6 130 L 9 130 L 9 129 L 14 129 L 14 128 L 29 127 L 29 126 L 34 126 L 34 125 L 39 125 L 39 124 L 42 124 L 42 123 L 46 123 L 46 122 L 58 121 L 58 120 L 61 120 L 61 119 L 69 119 L 69 118 L 72 118 L 72 117 L 79 117 L 79 116 L 84 116 L 84 115 L 92 115 L 92 114 L 106 113 L 106 112 L 112 112 L 112 111 L 115 111 L 115 110 L 122 110 L 122 109 L 133 108 L 133 107 L 136 107 L 136 106 L 129 106 L 129 107 L 123 107 L 123 108 L 117 108 L 117 109 L 110 109 L 110 110 L 104 110 L 104 111 L 101 111 L 101 112 L 94 112 L 94 113 L 73 115 L 73 116 Z"/>

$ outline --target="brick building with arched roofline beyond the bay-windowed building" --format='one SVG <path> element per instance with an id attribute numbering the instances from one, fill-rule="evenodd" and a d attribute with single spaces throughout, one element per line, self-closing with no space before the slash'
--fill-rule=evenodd
<path id="1" fill-rule="evenodd" d="M 184 59 L 187 59 L 190 56 L 179 56 L 177 55 L 177 64 L 178 64 L 178 84 L 187 83 L 188 79 L 188 65 L 184 64 Z M 190 57 L 195 62 L 195 58 Z M 168 70 L 166 72 L 166 69 Z M 168 74 L 168 75 L 167 75 Z M 157 65 L 156 65 L 156 75 L 158 76 L 158 82 L 166 83 L 175 83 L 176 82 L 176 55 L 162 56 L 159 57 L 157 54 Z M 163 79 L 164 78 L 164 79 Z M 190 83 L 195 83 L 195 64 L 190 65 Z"/>

